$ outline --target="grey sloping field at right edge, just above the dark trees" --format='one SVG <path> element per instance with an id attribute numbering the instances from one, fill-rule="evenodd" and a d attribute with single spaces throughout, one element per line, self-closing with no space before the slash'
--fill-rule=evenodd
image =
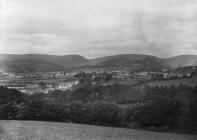
<path id="1" fill-rule="evenodd" d="M 147 83 L 149 86 L 179 86 L 180 84 L 187 86 L 197 86 L 197 77 L 188 78 L 188 79 L 177 79 L 177 80 L 164 80 L 164 81 L 153 81 Z"/>

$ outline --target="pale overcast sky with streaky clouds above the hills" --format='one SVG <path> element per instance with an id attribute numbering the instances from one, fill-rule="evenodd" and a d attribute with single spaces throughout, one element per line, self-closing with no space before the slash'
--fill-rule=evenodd
<path id="1" fill-rule="evenodd" d="M 0 53 L 197 55 L 197 0 L 0 0 Z"/>

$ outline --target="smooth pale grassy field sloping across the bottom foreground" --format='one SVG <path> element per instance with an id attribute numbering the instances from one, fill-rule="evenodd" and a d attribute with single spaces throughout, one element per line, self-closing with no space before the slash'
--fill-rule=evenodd
<path id="1" fill-rule="evenodd" d="M 1 140 L 196 140 L 197 136 L 38 121 L 0 120 Z"/>

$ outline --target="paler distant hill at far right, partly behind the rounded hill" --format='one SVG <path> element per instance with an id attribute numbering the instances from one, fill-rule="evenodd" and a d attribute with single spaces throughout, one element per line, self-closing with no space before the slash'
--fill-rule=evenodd
<path id="1" fill-rule="evenodd" d="M 163 60 L 173 68 L 197 65 L 197 55 L 179 55 Z"/>

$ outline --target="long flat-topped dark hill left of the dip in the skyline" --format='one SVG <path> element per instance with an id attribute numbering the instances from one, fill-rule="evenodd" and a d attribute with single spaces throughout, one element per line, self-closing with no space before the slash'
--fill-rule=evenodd
<path id="1" fill-rule="evenodd" d="M 79 55 L 0 54 L 1 69 L 13 72 L 56 71 L 88 64 L 89 61 Z"/>

